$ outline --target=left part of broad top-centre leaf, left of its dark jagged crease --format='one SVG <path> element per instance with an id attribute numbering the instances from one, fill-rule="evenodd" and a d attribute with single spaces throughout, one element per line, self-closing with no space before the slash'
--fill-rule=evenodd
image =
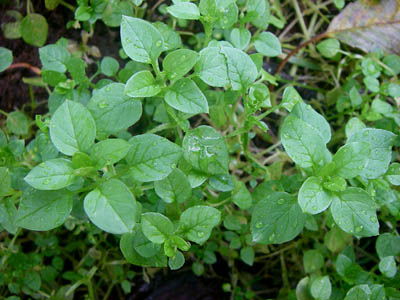
<path id="1" fill-rule="evenodd" d="M 200 51 L 195 67 L 196 75 L 213 87 L 224 87 L 229 84 L 226 57 L 218 47 L 207 47 Z"/>

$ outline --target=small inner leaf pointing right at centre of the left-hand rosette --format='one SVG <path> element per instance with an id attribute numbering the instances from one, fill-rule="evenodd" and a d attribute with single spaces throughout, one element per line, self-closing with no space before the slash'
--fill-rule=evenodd
<path id="1" fill-rule="evenodd" d="M 131 144 L 125 140 L 107 139 L 94 144 L 90 150 L 90 156 L 97 168 L 101 169 L 123 159 L 128 154 L 130 147 Z"/>

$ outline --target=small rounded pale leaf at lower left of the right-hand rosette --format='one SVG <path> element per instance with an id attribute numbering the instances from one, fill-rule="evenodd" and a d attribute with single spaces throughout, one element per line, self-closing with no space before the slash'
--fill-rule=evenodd
<path id="1" fill-rule="evenodd" d="M 322 182 L 321 178 L 312 176 L 301 186 L 298 201 L 303 212 L 315 215 L 331 205 L 335 196 L 323 188 Z"/>

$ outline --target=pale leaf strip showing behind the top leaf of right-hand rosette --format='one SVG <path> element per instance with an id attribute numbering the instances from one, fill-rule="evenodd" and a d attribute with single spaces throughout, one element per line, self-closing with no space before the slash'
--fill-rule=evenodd
<path id="1" fill-rule="evenodd" d="M 329 123 L 323 116 L 317 113 L 311 107 L 311 105 L 307 105 L 304 102 L 299 102 L 293 106 L 290 115 L 299 118 L 315 129 L 325 144 L 331 140 L 331 128 Z"/>

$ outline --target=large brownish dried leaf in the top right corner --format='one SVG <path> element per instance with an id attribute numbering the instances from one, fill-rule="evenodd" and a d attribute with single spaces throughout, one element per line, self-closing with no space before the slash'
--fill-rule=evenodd
<path id="1" fill-rule="evenodd" d="M 350 3 L 329 25 L 329 36 L 365 52 L 400 54 L 400 0 Z"/>

